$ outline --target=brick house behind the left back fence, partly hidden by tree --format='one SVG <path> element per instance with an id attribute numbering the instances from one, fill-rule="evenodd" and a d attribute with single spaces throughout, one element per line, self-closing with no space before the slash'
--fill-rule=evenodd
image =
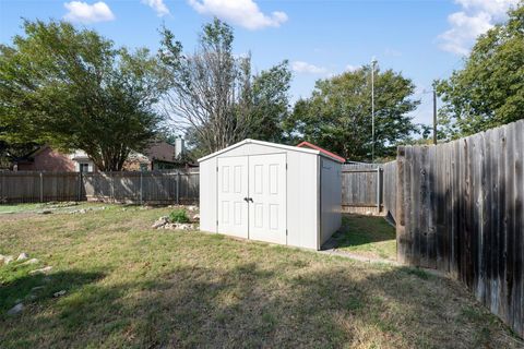
<path id="1" fill-rule="evenodd" d="M 179 141 L 180 140 L 180 141 Z M 126 171 L 151 171 L 179 168 L 177 158 L 184 152 L 183 140 L 177 139 L 175 145 L 167 142 L 155 142 L 143 153 L 131 152 L 123 165 Z M 32 153 L 16 159 L 13 169 L 19 171 L 56 171 L 56 172 L 94 172 L 96 166 L 83 151 L 64 154 L 41 146 Z"/>

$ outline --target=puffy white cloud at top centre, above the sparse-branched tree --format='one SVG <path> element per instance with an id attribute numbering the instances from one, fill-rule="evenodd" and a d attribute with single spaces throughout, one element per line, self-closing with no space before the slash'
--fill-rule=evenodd
<path id="1" fill-rule="evenodd" d="M 267 26 L 278 27 L 287 21 L 287 14 L 275 11 L 262 13 L 253 0 L 188 0 L 189 4 L 201 14 L 216 15 L 221 20 L 231 22 L 254 31 Z"/>

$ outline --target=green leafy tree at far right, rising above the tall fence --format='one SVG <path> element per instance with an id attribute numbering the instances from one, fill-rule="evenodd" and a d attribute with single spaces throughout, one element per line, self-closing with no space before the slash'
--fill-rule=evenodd
<path id="1" fill-rule="evenodd" d="M 464 69 L 436 83 L 439 123 L 456 139 L 524 118 L 524 5 L 478 37 Z"/>

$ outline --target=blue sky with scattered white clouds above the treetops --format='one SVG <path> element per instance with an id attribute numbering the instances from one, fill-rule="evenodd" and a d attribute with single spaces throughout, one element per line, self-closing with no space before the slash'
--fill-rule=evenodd
<path id="1" fill-rule="evenodd" d="M 291 101 L 309 97 L 319 79 L 369 64 L 413 80 L 421 105 L 412 116 L 432 121 L 431 83 L 461 69 L 475 38 L 507 19 L 517 0 L 0 0 L 0 43 L 22 34 L 22 19 L 64 20 L 96 29 L 118 46 L 159 46 L 170 28 L 193 51 L 202 25 L 217 16 L 235 29 L 235 52 L 252 55 L 254 71 L 287 59 Z"/>

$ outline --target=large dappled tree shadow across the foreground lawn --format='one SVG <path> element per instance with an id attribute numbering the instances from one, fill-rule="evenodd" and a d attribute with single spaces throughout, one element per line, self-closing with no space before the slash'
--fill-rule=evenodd
<path id="1" fill-rule="evenodd" d="M 409 268 L 369 274 L 357 264 L 327 274 L 281 267 L 179 266 L 112 286 L 80 275 L 87 285 L 52 312 L 35 308 L 0 326 L 2 347 L 512 346 L 498 337 L 499 322 L 452 281 Z M 21 336 L 28 324 L 31 335 Z"/>

